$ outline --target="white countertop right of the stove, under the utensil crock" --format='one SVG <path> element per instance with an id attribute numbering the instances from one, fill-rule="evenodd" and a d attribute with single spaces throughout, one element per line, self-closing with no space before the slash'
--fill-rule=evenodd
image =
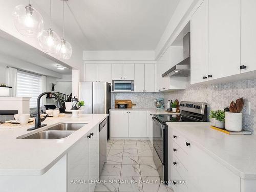
<path id="1" fill-rule="evenodd" d="M 228 135 L 210 129 L 210 122 L 169 122 L 191 144 L 243 179 L 256 179 L 256 135 Z"/>

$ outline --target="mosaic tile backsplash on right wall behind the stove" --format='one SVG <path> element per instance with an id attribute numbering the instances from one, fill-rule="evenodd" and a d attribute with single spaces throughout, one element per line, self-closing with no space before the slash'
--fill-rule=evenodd
<path id="1" fill-rule="evenodd" d="M 245 79 L 236 82 L 190 85 L 190 80 L 185 90 L 164 93 L 165 102 L 178 99 L 179 101 L 200 101 L 208 103 L 208 114 L 210 110 L 223 110 L 229 106 L 231 101 L 243 97 L 244 101 L 250 102 L 251 114 L 242 117 L 243 130 L 252 131 L 256 125 L 256 78 Z"/>

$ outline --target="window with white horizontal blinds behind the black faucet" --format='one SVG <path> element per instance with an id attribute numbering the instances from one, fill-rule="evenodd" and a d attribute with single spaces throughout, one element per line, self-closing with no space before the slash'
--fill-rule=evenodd
<path id="1" fill-rule="evenodd" d="M 31 97 L 30 108 L 36 108 L 38 95 L 42 93 L 41 76 L 17 71 L 17 97 Z"/>

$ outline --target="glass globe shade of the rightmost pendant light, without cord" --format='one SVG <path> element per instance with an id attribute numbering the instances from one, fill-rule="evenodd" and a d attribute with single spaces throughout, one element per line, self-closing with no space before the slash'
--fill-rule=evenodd
<path id="1" fill-rule="evenodd" d="M 72 46 L 68 41 L 62 39 L 57 45 L 56 54 L 61 59 L 69 59 L 72 55 Z"/>

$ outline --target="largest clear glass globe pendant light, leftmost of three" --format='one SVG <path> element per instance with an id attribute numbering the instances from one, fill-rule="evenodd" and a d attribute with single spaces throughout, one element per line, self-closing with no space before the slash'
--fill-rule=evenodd
<path id="1" fill-rule="evenodd" d="M 44 29 L 41 14 L 28 5 L 18 5 L 13 10 L 13 22 L 17 31 L 27 37 L 38 37 Z"/>

